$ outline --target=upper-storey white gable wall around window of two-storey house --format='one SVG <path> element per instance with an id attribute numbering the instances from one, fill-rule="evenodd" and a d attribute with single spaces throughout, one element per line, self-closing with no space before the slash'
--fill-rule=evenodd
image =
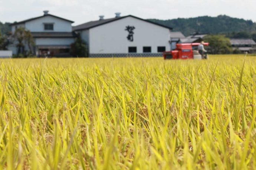
<path id="1" fill-rule="evenodd" d="M 53 23 L 53 30 L 45 30 L 44 23 Z M 52 16 L 45 16 L 26 22 L 26 29 L 30 32 L 71 32 L 72 26 L 69 21 Z"/>

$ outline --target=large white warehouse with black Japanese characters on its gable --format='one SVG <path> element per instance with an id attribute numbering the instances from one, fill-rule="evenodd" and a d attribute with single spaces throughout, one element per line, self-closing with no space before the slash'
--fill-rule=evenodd
<path id="1" fill-rule="evenodd" d="M 73 27 L 88 44 L 89 57 L 162 56 L 163 51 L 170 51 L 171 29 L 120 13 Z"/>

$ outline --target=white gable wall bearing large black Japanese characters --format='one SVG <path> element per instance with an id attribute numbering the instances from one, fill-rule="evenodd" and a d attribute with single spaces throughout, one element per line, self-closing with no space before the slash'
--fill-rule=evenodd
<path id="1" fill-rule="evenodd" d="M 127 40 L 126 26 L 134 26 L 134 41 Z M 151 53 L 157 53 L 158 46 L 170 50 L 170 30 L 134 17 L 126 17 L 103 24 L 89 30 L 89 53 L 128 53 L 129 46 L 137 47 L 137 53 L 143 53 L 144 46 L 151 47 Z"/>

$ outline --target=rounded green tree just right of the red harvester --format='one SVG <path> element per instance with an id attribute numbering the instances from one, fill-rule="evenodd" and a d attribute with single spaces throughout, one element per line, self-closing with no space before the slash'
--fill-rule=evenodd
<path id="1" fill-rule="evenodd" d="M 207 48 L 210 54 L 232 53 L 230 40 L 223 35 L 209 35 L 204 37 L 204 41 L 210 43 Z"/>

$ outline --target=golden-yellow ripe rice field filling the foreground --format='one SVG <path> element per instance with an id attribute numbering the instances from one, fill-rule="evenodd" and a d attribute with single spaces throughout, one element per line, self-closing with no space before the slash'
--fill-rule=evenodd
<path id="1" fill-rule="evenodd" d="M 254 169 L 256 57 L 0 60 L 0 169 Z"/>

